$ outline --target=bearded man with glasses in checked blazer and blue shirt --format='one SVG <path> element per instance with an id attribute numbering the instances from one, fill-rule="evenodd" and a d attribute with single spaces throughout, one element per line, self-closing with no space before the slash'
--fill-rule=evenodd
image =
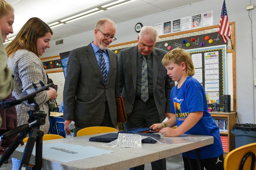
<path id="1" fill-rule="evenodd" d="M 119 70 L 116 53 L 108 50 L 115 41 L 116 24 L 100 19 L 95 26 L 95 39 L 89 45 L 69 54 L 63 91 L 65 132 L 75 121 L 75 133 L 91 126 L 114 128 L 117 123 L 115 96 L 119 95 Z"/>

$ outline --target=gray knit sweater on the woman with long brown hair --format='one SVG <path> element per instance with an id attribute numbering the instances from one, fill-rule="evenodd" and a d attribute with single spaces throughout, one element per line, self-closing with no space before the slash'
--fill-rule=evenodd
<path id="1" fill-rule="evenodd" d="M 39 57 L 33 52 L 22 49 L 14 52 L 12 58 L 8 58 L 7 66 L 12 69 L 14 75 L 14 90 L 12 95 L 17 98 L 18 94 L 27 92 L 28 94 L 34 91 L 32 83 L 37 87 L 40 87 L 39 81 L 41 80 L 44 85 L 47 84 L 46 72 L 43 68 L 43 64 Z M 48 119 L 48 104 L 46 101 L 49 99 L 49 94 L 44 90 L 39 92 L 35 97 L 39 104 L 40 111 L 47 113 L 46 123 L 40 126 L 40 130 L 47 134 L 49 130 Z M 16 105 L 18 126 L 28 123 L 29 114 L 27 111 L 34 110 L 34 103 L 29 104 L 27 101 Z"/>

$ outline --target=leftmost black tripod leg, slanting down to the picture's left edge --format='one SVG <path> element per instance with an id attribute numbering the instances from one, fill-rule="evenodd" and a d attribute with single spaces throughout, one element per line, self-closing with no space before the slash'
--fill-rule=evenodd
<path id="1" fill-rule="evenodd" d="M 11 156 L 11 154 L 15 151 L 15 149 L 20 145 L 20 140 L 22 140 L 26 136 L 25 132 L 21 132 L 18 137 L 15 139 L 15 141 L 11 144 L 11 146 L 7 149 L 7 151 L 2 155 L 0 159 L 0 167 L 6 160 L 8 160 Z"/>

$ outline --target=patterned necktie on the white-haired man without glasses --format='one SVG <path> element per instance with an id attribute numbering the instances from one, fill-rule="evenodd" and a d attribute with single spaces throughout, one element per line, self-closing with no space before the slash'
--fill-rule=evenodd
<path id="1" fill-rule="evenodd" d="M 149 98 L 148 96 L 148 67 L 146 64 L 146 58 L 143 56 L 142 63 L 142 88 L 141 88 L 141 99 L 146 102 Z"/>

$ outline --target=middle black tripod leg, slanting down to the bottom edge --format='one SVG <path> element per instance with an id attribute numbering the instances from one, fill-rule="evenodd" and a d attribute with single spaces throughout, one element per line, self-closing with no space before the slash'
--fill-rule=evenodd
<path id="1" fill-rule="evenodd" d="M 22 154 L 21 161 L 20 161 L 18 169 L 27 168 L 27 166 L 30 162 L 30 157 L 31 157 L 33 147 L 34 147 L 34 143 L 36 142 L 36 137 L 37 137 L 38 133 L 39 133 L 39 127 L 36 127 L 36 128 L 33 127 L 31 132 L 30 132 L 30 135 L 29 135 L 29 138 L 28 138 L 28 141 L 27 141 L 27 145 L 26 145 L 26 147 L 24 149 L 24 152 Z"/>

